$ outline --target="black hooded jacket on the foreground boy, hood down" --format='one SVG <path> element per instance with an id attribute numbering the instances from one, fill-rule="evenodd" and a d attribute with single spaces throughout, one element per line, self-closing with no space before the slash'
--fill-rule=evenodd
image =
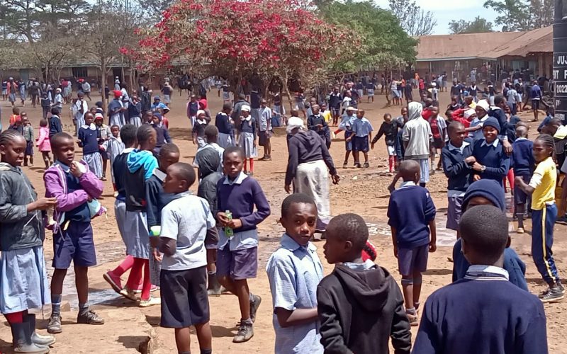
<path id="1" fill-rule="evenodd" d="M 368 262 L 368 261 L 367 261 Z M 388 270 L 352 270 L 339 264 L 317 287 L 325 353 L 410 353 L 411 333 L 403 296 Z"/>

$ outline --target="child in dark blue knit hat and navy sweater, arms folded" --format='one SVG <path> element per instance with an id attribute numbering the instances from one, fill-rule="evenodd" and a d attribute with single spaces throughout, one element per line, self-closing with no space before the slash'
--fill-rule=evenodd
<path id="1" fill-rule="evenodd" d="M 475 161 L 471 168 L 474 181 L 491 179 L 502 185 L 503 178 L 510 169 L 510 156 L 506 154 L 498 135 L 500 124 L 496 118 L 489 117 L 483 124 L 484 139 L 477 140 L 473 147 Z"/>

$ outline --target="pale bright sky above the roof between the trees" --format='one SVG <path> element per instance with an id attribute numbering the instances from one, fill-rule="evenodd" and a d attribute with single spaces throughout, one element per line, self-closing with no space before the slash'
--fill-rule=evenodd
<path id="1" fill-rule="evenodd" d="M 388 0 L 375 0 L 381 8 L 388 8 Z M 494 24 L 497 14 L 483 8 L 484 0 L 416 0 L 418 6 L 425 11 L 434 13 L 437 25 L 433 28 L 434 35 L 449 33 L 449 22 L 455 20 L 472 21 L 476 16 L 486 18 Z M 499 29 L 494 26 L 495 29 Z"/>

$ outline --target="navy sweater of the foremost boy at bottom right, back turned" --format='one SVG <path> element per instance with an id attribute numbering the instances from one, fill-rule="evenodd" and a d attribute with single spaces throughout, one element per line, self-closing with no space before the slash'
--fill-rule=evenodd
<path id="1" fill-rule="evenodd" d="M 546 354 L 544 306 L 505 278 L 467 275 L 427 298 L 412 353 Z"/>

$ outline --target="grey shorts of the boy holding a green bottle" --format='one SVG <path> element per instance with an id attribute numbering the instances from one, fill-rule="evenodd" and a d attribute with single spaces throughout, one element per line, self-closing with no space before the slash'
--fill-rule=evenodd
<path id="1" fill-rule="evenodd" d="M 232 280 L 256 278 L 258 273 L 258 247 L 230 251 L 217 251 L 217 275 L 230 276 Z"/>

